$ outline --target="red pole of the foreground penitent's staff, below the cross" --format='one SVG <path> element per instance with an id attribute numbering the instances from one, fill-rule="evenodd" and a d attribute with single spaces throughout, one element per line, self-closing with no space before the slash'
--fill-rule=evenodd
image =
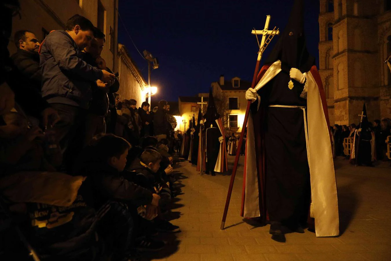
<path id="1" fill-rule="evenodd" d="M 261 57 L 262 57 L 262 53 L 259 52 L 258 59 L 256 60 L 255 71 L 254 71 L 254 76 L 253 76 L 253 82 L 251 83 L 251 88 L 255 87 L 255 81 L 256 81 L 256 77 L 258 76 L 258 70 L 259 70 L 259 64 L 261 61 Z M 248 101 L 247 108 L 246 108 L 246 114 L 244 115 L 244 121 L 243 121 L 243 125 L 242 125 L 242 132 L 240 133 L 239 145 L 238 145 L 238 148 L 236 151 L 235 163 L 233 164 L 230 187 L 228 187 L 228 194 L 227 194 L 227 200 L 225 202 L 224 214 L 222 215 L 222 221 L 221 221 L 221 227 L 220 227 L 221 230 L 224 229 L 225 220 L 227 218 L 228 207 L 230 205 L 230 200 L 231 200 L 231 195 L 232 195 L 233 181 L 235 180 L 236 170 L 238 168 L 238 163 L 239 163 L 240 149 L 242 148 L 242 143 L 243 143 L 243 139 L 244 139 L 244 132 L 246 131 L 246 128 L 247 128 L 247 121 L 248 121 L 248 115 L 250 112 L 250 105 L 251 105 L 251 101 Z"/>

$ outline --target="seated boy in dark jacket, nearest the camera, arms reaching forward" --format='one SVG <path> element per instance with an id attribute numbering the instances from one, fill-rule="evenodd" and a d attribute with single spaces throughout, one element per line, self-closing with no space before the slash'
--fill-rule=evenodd
<path id="1" fill-rule="evenodd" d="M 131 176 L 122 172 L 130 148 L 126 140 L 113 134 L 99 135 L 81 154 L 88 155 L 87 158 L 76 166 L 77 173 L 88 177 L 86 182 L 90 182 L 95 209 L 107 203 L 111 206 L 112 212 L 106 214 L 100 222 L 100 233 L 111 235 L 113 247 L 117 248 L 114 252 L 122 253 L 122 256 L 129 251 L 133 238 L 140 236 L 143 232 L 141 230 L 146 229 L 140 228 L 141 217 L 136 208 L 146 205 L 146 218 L 149 219 L 156 216 L 160 200 L 156 193 L 124 178 Z M 113 223 L 115 229 L 109 226 Z M 145 238 L 138 238 L 135 243 L 140 251 L 158 251 L 164 245 L 162 241 Z"/>

